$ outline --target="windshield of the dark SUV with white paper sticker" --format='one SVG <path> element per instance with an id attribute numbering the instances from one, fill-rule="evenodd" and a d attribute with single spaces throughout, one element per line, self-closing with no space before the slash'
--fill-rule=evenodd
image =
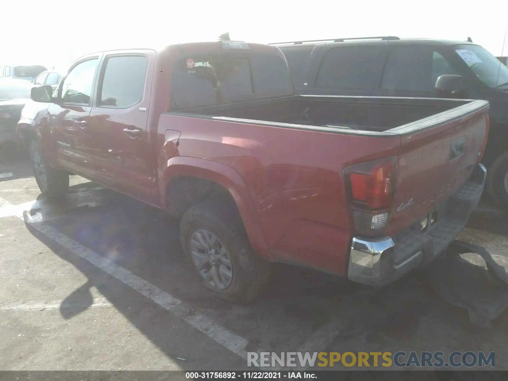
<path id="1" fill-rule="evenodd" d="M 455 51 L 474 75 L 487 86 L 499 87 L 508 84 L 508 68 L 488 50 L 479 45 L 457 45 Z"/>

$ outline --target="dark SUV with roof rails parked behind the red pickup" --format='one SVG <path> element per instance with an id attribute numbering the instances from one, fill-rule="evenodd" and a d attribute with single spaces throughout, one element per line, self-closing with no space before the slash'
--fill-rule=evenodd
<path id="1" fill-rule="evenodd" d="M 465 41 L 370 37 L 272 44 L 301 94 L 467 98 L 490 102 L 482 163 L 490 195 L 508 208 L 508 68 Z"/>

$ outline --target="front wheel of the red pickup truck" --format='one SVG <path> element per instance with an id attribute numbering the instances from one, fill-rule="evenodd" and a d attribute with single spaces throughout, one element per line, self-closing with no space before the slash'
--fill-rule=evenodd
<path id="1" fill-rule="evenodd" d="M 66 194 L 69 189 L 69 174 L 49 165 L 46 157 L 44 157 L 41 145 L 36 139 L 30 141 L 29 156 L 34 170 L 34 177 L 41 193 L 48 198 L 60 197 Z"/>

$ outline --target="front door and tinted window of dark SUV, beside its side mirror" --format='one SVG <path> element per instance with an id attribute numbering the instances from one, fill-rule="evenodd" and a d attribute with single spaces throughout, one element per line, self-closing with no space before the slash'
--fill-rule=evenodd
<path id="1" fill-rule="evenodd" d="M 372 95 L 379 97 L 437 98 L 434 89 L 439 76 L 460 75 L 446 58 L 447 52 L 423 44 L 388 44 L 382 75 Z"/>

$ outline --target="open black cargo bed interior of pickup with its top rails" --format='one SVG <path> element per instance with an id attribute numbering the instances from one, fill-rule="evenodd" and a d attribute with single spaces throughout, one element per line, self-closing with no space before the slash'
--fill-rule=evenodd
<path id="1" fill-rule="evenodd" d="M 236 122 L 255 120 L 257 124 L 342 134 L 393 136 L 428 128 L 444 119 L 463 117 L 484 106 L 483 101 L 454 99 L 297 95 L 180 109 L 172 114 Z"/>

